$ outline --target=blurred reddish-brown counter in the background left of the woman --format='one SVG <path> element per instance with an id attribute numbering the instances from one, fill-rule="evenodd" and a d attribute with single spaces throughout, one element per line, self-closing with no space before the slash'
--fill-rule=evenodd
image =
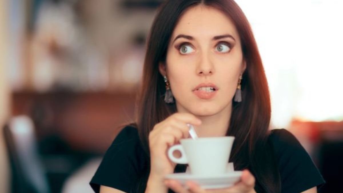
<path id="1" fill-rule="evenodd" d="M 57 136 L 73 150 L 102 154 L 133 121 L 135 101 L 134 92 L 14 92 L 12 115 L 32 117 L 38 140 Z"/>

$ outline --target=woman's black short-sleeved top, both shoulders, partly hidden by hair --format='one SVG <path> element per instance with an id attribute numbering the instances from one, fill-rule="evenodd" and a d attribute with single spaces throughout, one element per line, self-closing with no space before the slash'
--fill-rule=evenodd
<path id="1" fill-rule="evenodd" d="M 310 156 L 290 132 L 274 129 L 270 137 L 280 170 L 282 193 L 299 193 L 325 183 Z M 146 164 L 137 129 L 127 126 L 108 148 L 90 185 L 96 193 L 100 185 L 135 192 L 131 188 L 135 187 L 137 176 Z M 186 165 L 177 164 L 174 172 L 185 171 Z"/>

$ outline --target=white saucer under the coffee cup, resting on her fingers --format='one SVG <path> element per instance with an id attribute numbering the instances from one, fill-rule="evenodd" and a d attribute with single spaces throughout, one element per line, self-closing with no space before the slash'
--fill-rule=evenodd
<path id="1" fill-rule="evenodd" d="M 225 174 L 215 175 L 211 177 L 199 176 L 190 173 L 173 173 L 165 176 L 166 179 L 178 180 L 185 186 L 187 181 L 193 181 L 203 189 L 219 189 L 228 188 L 239 181 L 242 171 L 231 171 Z"/>

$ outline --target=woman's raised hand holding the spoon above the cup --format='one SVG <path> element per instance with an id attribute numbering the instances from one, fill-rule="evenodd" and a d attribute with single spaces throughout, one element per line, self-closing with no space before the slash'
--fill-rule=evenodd
<path id="1" fill-rule="evenodd" d="M 189 113 L 175 113 L 154 126 L 149 134 L 151 159 L 149 178 L 161 179 L 163 183 L 164 176 L 174 172 L 176 164 L 169 160 L 167 150 L 181 138 L 188 138 L 187 123 L 200 125 L 201 120 Z"/>

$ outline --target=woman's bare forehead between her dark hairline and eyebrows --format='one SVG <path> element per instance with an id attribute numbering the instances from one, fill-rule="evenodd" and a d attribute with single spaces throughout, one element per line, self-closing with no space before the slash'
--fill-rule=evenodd
<path id="1" fill-rule="evenodd" d="M 191 35 L 196 39 L 230 34 L 239 41 L 239 35 L 232 20 L 220 10 L 206 5 L 197 5 L 181 15 L 172 39 L 178 34 Z"/>

